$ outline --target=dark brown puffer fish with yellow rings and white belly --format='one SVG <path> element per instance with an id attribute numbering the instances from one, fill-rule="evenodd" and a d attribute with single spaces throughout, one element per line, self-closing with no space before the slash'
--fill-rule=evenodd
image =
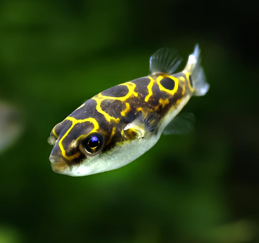
<path id="1" fill-rule="evenodd" d="M 174 73 L 180 63 L 176 51 L 159 49 L 148 76 L 101 92 L 58 123 L 48 138 L 52 170 L 74 177 L 114 170 L 148 151 L 163 131 L 173 133 L 174 117 L 209 88 L 198 45 Z"/>

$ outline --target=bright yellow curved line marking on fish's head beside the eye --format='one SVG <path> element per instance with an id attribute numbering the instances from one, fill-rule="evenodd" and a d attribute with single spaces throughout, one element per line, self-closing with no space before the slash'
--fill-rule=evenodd
<path id="1" fill-rule="evenodd" d="M 96 131 L 98 128 L 99 128 L 99 124 L 98 122 L 92 118 L 92 117 L 89 117 L 89 118 L 86 118 L 86 119 L 80 119 L 80 120 L 77 120 L 76 118 L 72 117 L 72 116 L 68 116 L 65 120 L 69 120 L 72 122 L 70 128 L 66 131 L 66 133 L 63 135 L 63 137 L 59 140 L 58 142 L 58 146 L 60 147 L 60 150 L 61 150 L 61 153 L 63 155 L 64 158 L 68 159 L 68 160 L 73 160 L 75 158 L 78 158 L 81 153 L 80 152 L 77 152 L 76 154 L 72 155 L 72 156 L 67 156 L 66 155 L 66 151 L 62 145 L 62 142 L 63 140 L 65 139 L 65 137 L 69 134 L 69 132 L 72 130 L 72 128 L 78 124 L 78 123 L 84 123 L 84 122 L 91 122 L 93 125 L 94 125 L 94 128 L 88 133 L 90 134 L 91 132 L 93 131 Z M 65 121 L 64 120 L 64 121 Z M 88 134 L 86 135 L 81 135 L 80 137 L 78 137 L 76 140 L 79 140 L 81 137 L 85 137 L 85 136 L 88 136 Z"/>

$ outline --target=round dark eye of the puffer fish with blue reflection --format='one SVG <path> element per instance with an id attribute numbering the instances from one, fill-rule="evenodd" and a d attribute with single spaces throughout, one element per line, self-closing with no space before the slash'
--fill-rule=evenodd
<path id="1" fill-rule="evenodd" d="M 87 156 L 94 156 L 102 151 L 104 147 L 104 136 L 98 132 L 89 134 L 79 146 L 82 153 Z"/>

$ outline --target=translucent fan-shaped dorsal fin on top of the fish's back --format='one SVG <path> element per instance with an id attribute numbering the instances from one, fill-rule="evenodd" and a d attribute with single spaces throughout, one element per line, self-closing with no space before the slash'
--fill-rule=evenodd
<path id="1" fill-rule="evenodd" d="M 176 50 L 170 48 L 159 49 L 150 57 L 150 74 L 162 72 L 171 75 L 181 61 L 182 59 Z"/>

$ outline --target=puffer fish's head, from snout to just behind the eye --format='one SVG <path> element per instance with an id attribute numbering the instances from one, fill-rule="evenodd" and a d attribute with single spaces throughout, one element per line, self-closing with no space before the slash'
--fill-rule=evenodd
<path id="1" fill-rule="evenodd" d="M 103 152 L 106 133 L 94 118 L 67 117 L 57 124 L 48 138 L 53 146 L 50 162 L 54 172 L 80 176 L 77 169 Z"/>

